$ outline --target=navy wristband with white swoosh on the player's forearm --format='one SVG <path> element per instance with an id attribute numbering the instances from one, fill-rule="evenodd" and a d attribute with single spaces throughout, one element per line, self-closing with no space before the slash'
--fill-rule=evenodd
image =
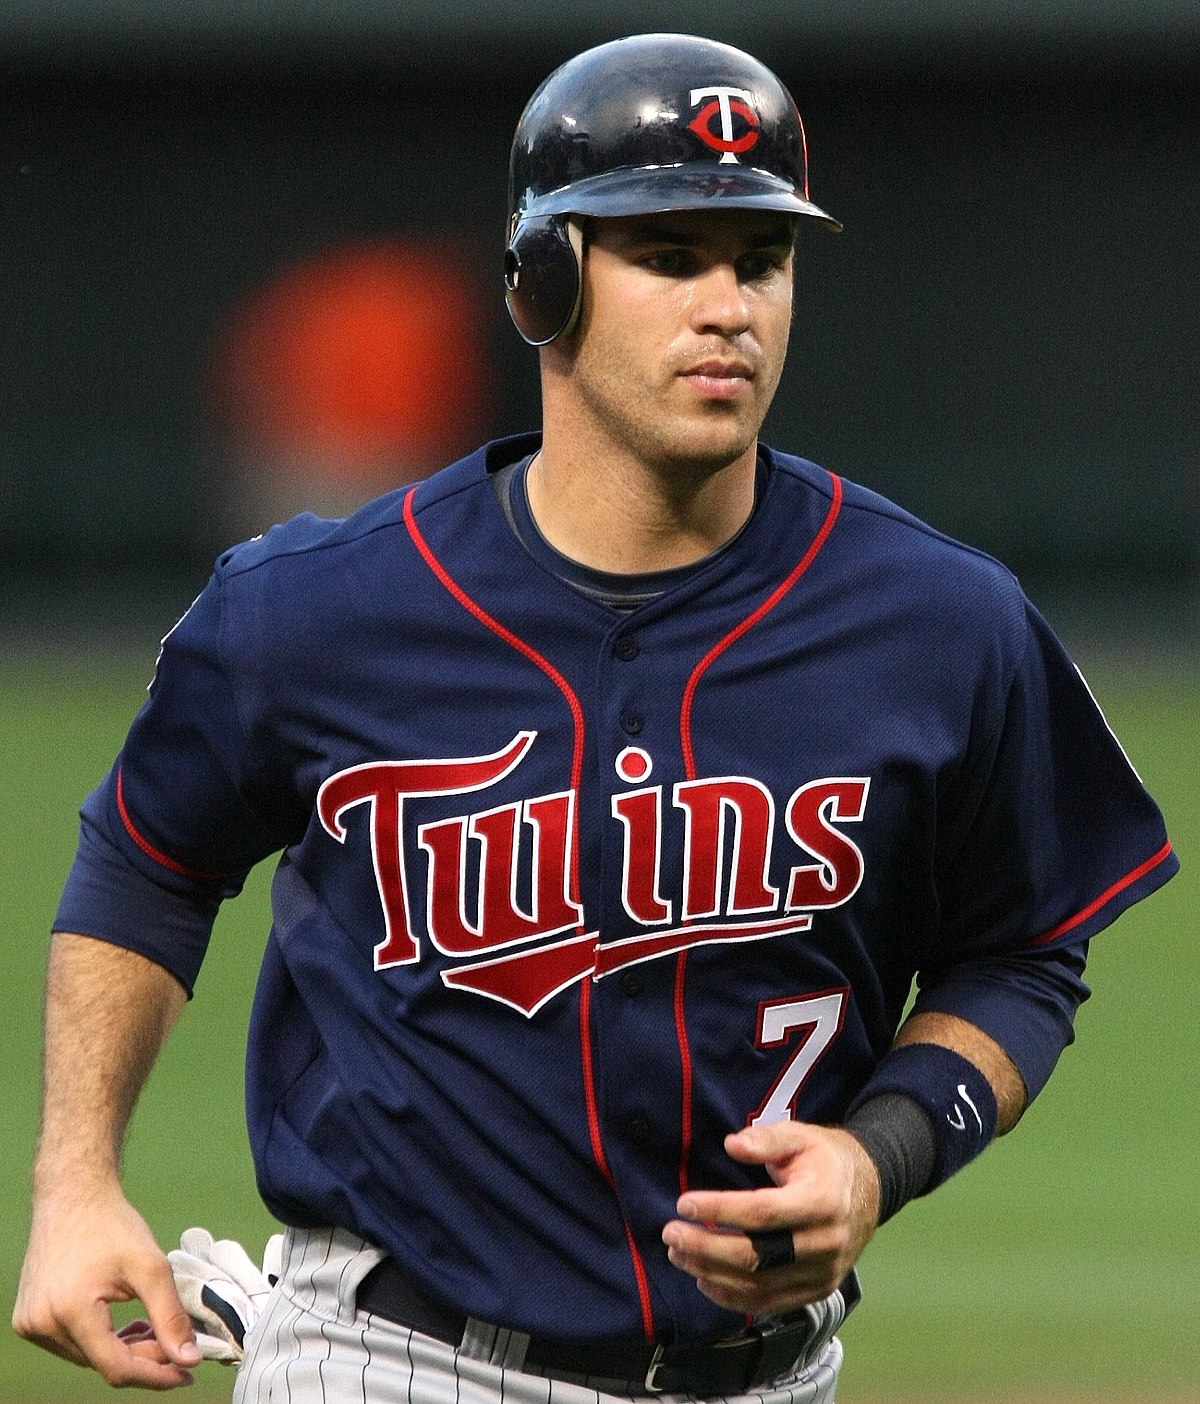
<path id="1" fill-rule="evenodd" d="M 991 1082 L 961 1053 L 940 1043 L 905 1043 L 893 1049 L 851 1104 L 846 1122 L 859 1108 L 887 1094 L 914 1101 L 933 1130 L 933 1168 L 928 1184 L 914 1193 L 928 1195 L 945 1184 L 996 1133 L 996 1098 Z"/>

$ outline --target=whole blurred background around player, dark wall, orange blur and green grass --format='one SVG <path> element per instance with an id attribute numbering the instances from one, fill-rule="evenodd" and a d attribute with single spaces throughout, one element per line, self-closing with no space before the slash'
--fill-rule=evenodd
<path id="1" fill-rule="evenodd" d="M 512 126 L 559 62 L 655 28 L 780 74 L 845 223 L 801 239 L 766 437 L 1018 571 L 1185 856 L 1098 955 L 1117 988 L 1050 1111 L 870 1250 L 845 1397 L 1200 1398 L 1196 0 L 0 0 L 7 1184 L 74 807 L 157 637 L 229 542 L 536 423 L 500 281 Z M 209 1004 L 173 1054 L 205 1095 L 168 1060 L 131 1146 L 164 1241 L 269 1230 L 236 1105 L 265 885 L 233 908 L 205 976 L 227 1035 Z M 7 1287 L 22 1192 L 4 1213 Z M 0 1389 L 102 1393 L 13 1341 Z"/>

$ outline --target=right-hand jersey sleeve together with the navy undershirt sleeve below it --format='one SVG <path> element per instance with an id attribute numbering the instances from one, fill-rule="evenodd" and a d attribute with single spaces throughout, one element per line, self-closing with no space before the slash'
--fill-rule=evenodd
<path id="1" fill-rule="evenodd" d="M 967 1019 L 1020 1073 L 1027 1099 L 1074 1039 L 1091 936 L 1179 868 L 1162 816 L 1046 621 L 1025 636 L 998 719 L 947 788 L 942 924 L 914 1012 Z"/>

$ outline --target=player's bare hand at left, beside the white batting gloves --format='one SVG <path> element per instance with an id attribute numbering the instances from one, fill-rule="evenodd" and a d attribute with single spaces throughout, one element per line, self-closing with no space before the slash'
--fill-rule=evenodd
<path id="1" fill-rule="evenodd" d="M 131 1342 L 116 1334 L 111 1304 L 135 1299 L 153 1337 Z M 191 1384 L 201 1359 L 171 1265 L 119 1186 L 74 1186 L 35 1203 L 13 1328 L 114 1386 Z"/>

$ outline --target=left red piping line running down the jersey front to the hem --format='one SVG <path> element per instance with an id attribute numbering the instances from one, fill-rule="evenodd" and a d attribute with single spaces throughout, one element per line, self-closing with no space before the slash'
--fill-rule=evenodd
<path id="1" fill-rule="evenodd" d="M 432 570 L 438 580 L 445 585 L 445 588 L 458 600 L 458 602 L 473 615 L 481 625 L 491 629 L 498 637 L 501 637 L 507 644 L 516 649 L 518 653 L 524 654 L 539 667 L 546 677 L 554 684 L 554 687 L 563 694 L 567 701 L 567 706 L 571 709 L 571 720 L 574 723 L 574 747 L 571 754 L 571 789 L 578 795 L 580 785 L 582 782 L 584 774 L 584 709 L 580 699 L 575 696 L 574 689 L 570 682 L 563 677 L 561 673 L 550 663 L 549 658 L 543 657 L 535 647 L 519 639 L 511 629 L 507 629 L 498 619 L 494 619 L 480 604 L 470 598 L 470 595 L 462 588 L 462 585 L 451 576 L 446 567 L 434 555 L 432 548 L 421 535 L 421 529 L 417 526 L 417 517 L 413 510 L 413 498 L 417 494 L 417 489 L 411 487 L 404 497 L 404 525 L 408 529 L 408 535 L 413 539 L 417 550 L 421 553 L 425 564 Z M 571 837 L 571 896 L 574 897 L 577 906 L 582 906 L 580 901 L 580 830 L 578 823 L 575 824 L 575 831 Z M 582 920 L 580 921 L 580 931 L 584 929 Z M 584 1102 L 587 1106 L 588 1116 L 588 1136 L 592 1146 L 592 1157 L 596 1163 L 599 1172 L 604 1175 L 609 1188 L 613 1192 L 613 1198 L 618 1203 L 618 1210 L 620 1212 L 622 1224 L 625 1226 L 625 1237 L 629 1243 L 629 1257 L 633 1259 L 633 1276 L 637 1280 L 637 1299 L 641 1306 L 641 1330 L 646 1332 L 646 1339 L 654 1339 L 654 1310 L 650 1303 L 650 1283 L 646 1276 L 646 1264 L 641 1259 L 641 1252 L 633 1237 L 633 1230 L 629 1224 L 629 1219 L 625 1209 L 620 1205 L 620 1199 L 616 1193 L 616 1181 L 613 1179 L 612 1170 L 608 1164 L 608 1155 L 604 1148 L 604 1139 L 601 1136 L 599 1125 L 599 1108 L 596 1105 L 596 1085 L 595 1085 L 595 1066 L 592 1063 L 592 1036 L 591 1036 L 591 1005 L 592 1005 L 592 987 L 589 980 L 584 980 L 580 987 L 580 1050 L 582 1054 L 582 1070 L 584 1070 Z"/>

